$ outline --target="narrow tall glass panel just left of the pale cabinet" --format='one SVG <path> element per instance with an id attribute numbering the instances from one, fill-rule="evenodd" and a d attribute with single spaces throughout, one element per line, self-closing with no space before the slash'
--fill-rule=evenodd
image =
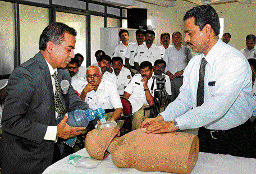
<path id="1" fill-rule="evenodd" d="M 97 63 L 94 56 L 95 52 L 100 49 L 100 28 L 104 27 L 104 17 L 91 16 L 91 65 Z"/>

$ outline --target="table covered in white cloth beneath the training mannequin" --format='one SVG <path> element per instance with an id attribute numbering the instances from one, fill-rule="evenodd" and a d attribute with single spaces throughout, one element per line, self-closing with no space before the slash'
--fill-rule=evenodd
<path id="1" fill-rule="evenodd" d="M 89 157 L 86 149 L 81 149 L 74 153 L 77 155 Z M 43 174 L 65 174 L 65 173 L 145 173 L 157 174 L 168 172 L 140 172 L 134 168 L 119 168 L 112 162 L 111 154 L 98 164 L 96 168 L 76 167 L 68 163 L 68 158 L 65 157 L 60 161 L 49 166 Z M 191 173 L 256 173 L 256 159 L 235 157 L 232 155 L 211 154 L 199 152 L 198 161 Z"/>

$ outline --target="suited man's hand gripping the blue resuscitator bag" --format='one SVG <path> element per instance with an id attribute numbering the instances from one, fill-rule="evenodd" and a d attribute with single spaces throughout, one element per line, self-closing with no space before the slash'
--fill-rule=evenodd
<path id="1" fill-rule="evenodd" d="M 85 127 L 71 127 L 67 125 L 67 113 L 65 114 L 64 118 L 61 120 L 60 123 L 57 125 L 57 137 L 61 137 L 63 139 L 67 139 L 76 135 L 81 134 L 82 130 Z"/>

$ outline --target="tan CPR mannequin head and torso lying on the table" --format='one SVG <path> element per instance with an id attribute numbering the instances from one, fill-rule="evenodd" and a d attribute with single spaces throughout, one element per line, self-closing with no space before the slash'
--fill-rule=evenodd
<path id="1" fill-rule="evenodd" d="M 88 132 L 85 146 L 95 159 L 102 160 L 112 153 L 117 167 L 139 171 L 190 173 L 198 159 L 199 141 L 185 132 L 147 134 L 143 129 L 118 137 L 119 127 Z"/>

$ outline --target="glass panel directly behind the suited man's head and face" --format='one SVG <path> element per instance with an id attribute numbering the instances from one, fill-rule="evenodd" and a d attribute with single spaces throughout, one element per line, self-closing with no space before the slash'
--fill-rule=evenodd
<path id="1" fill-rule="evenodd" d="M 77 31 L 75 54 L 80 53 L 84 56 L 84 62 L 81 66 L 86 66 L 86 16 L 72 13 L 56 12 L 56 22 L 62 22 Z"/>

